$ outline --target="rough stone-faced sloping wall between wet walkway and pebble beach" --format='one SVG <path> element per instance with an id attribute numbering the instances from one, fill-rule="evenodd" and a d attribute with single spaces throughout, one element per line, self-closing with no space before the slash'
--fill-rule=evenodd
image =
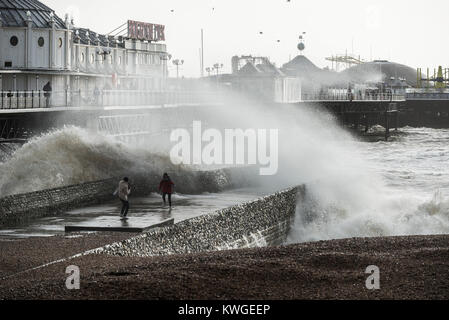
<path id="1" fill-rule="evenodd" d="M 284 190 L 108 245 L 96 253 L 144 257 L 280 245 L 286 241 L 304 193 L 303 186 Z"/>

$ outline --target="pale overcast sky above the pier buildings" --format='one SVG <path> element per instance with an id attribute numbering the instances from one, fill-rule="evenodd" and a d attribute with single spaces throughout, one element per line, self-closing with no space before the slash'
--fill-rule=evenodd
<path id="1" fill-rule="evenodd" d="M 76 26 L 100 33 L 128 19 L 166 25 L 168 50 L 185 60 L 181 73 L 188 77 L 200 74 L 201 28 L 205 66 L 223 63 L 226 72 L 233 55 L 268 56 L 281 66 L 299 53 L 302 32 L 305 55 L 319 67 L 346 51 L 415 68 L 449 67 L 448 0 L 41 1 L 61 18 L 68 12 Z"/>

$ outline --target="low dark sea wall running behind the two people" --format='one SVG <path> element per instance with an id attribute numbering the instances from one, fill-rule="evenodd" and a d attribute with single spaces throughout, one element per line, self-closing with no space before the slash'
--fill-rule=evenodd
<path id="1" fill-rule="evenodd" d="M 176 191 L 184 194 L 220 192 L 236 186 L 248 186 L 254 172 L 251 168 L 216 171 L 187 171 L 171 174 Z M 133 196 L 156 192 L 161 176 L 131 177 Z M 8 196 L 0 199 L 0 227 L 16 225 L 36 217 L 57 215 L 68 210 L 99 204 L 114 199 L 119 178 Z"/>

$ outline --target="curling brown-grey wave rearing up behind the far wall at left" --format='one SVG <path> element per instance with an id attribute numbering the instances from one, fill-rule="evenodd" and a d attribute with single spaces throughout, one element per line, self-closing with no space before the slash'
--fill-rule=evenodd
<path id="1" fill-rule="evenodd" d="M 168 157 L 77 127 L 35 137 L 0 163 L 0 195 L 57 188 L 123 174 L 177 170 Z"/>

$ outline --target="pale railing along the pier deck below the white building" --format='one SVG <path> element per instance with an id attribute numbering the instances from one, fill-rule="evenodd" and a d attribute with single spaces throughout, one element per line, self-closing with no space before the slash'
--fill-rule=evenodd
<path id="1" fill-rule="evenodd" d="M 217 103 L 220 96 L 214 91 L 0 91 L 0 110 L 202 104 Z"/>

